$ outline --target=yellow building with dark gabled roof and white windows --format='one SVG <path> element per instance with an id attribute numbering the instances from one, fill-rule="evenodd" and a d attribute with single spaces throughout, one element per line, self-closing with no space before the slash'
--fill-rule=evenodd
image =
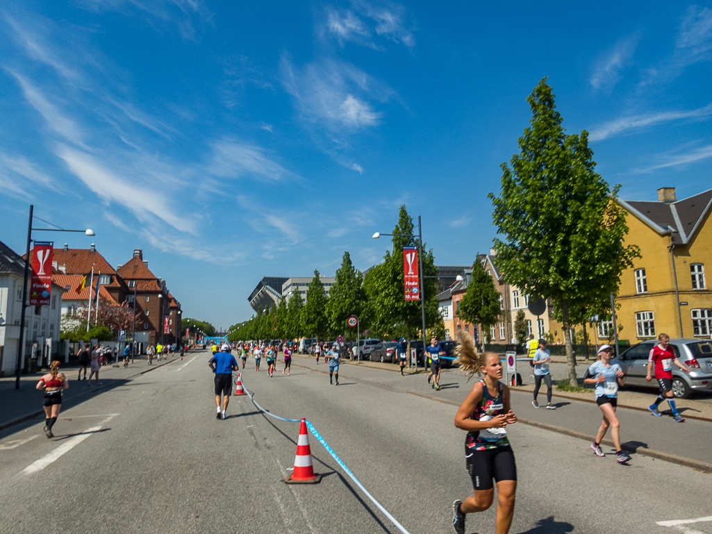
<path id="1" fill-rule="evenodd" d="M 636 244 L 641 253 L 621 277 L 619 338 L 634 344 L 663 332 L 711 337 L 712 290 L 705 266 L 712 266 L 712 189 L 677 200 L 674 187 L 663 187 L 658 201 L 619 204 L 629 214 L 625 244 Z M 604 337 L 611 324 L 598 328 Z"/>

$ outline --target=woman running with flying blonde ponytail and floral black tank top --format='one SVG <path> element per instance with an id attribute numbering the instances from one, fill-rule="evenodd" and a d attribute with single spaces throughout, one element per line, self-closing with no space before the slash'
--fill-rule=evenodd
<path id="1" fill-rule="evenodd" d="M 474 495 L 452 503 L 452 527 L 465 534 L 465 516 L 492 506 L 497 486 L 497 534 L 507 534 L 514 517 L 517 466 L 506 427 L 517 422 L 510 406 L 509 388 L 500 382 L 502 362 L 494 352 L 478 353 L 471 335 L 460 334 L 456 349 L 460 369 L 468 377 L 481 375 L 455 416 L 455 426 L 467 431 L 465 461 Z"/>

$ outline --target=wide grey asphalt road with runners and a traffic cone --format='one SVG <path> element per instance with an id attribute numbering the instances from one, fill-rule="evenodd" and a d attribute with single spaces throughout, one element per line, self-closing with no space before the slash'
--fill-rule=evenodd
<path id="1" fill-rule="evenodd" d="M 323 481 L 283 483 L 298 424 L 260 414 L 247 397 L 233 397 L 229 418 L 215 419 L 208 357 L 97 392 L 61 414 L 53 439 L 43 419 L 0 432 L 0 533 L 397 532 L 313 436 Z M 290 377 L 280 369 L 270 378 L 264 365 L 243 376 L 266 409 L 307 417 L 410 533 L 451 532 L 450 505 L 472 488 L 449 402 L 470 384 L 446 377 L 453 385 L 439 394 L 448 402 L 436 402 L 422 375 L 342 365 L 335 387 L 325 370 L 295 358 Z M 524 417 L 523 403 L 515 409 Z M 639 454 L 621 466 L 535 426 L 509 434 L 519 475 L 513 533 L 712 534 L 709 520 L 656 524 L 712 515 L 711 475 Z M 493 532 L 493 514 L 468 516 L 467 531 Z"/>

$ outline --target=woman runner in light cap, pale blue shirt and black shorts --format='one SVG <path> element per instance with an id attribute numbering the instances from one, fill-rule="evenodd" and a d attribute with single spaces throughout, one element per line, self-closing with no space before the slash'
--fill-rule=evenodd
<path id="1" fill-rule="evenodd" d="M 616 417 L 618 388 L 625 384 L 625 377 L 620 365 L 611 361 L 612 352 L 613 349 L 610 345 L 600 347 L 598 355 L 601 359 L 592 363 L 586 370 L 583 382 L 584 384 L 595 384 L 596 404 L 603 412 L 603 422 L 598 429 L 596 439 L 591 444 L 592 451 L 596 456 L 605 456 L 601 449 L 601 441 L 610 428 L 613 444 L 616 447 L 616 461 L 619 464 L 625 464 L 630 460 L 630 456 L 621 449 L 620 422 Z"/>

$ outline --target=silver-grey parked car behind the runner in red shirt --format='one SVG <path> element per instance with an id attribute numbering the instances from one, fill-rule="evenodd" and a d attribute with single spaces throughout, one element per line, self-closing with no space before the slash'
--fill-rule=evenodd
<path id="1" fill-rule="evenodd" d="M 655 379 L 650 382 L 645 379 L 648 374 L 648 356 L 657 343 L 657 341 L 638 343 L 618 357 L 618 362 L 626 375 L 626 385 L 657 389 L 658 383 Z M 673 365 L 672 392 L 675 397 L 686 399 L 695 389 L 712 392 L 712 340 L 674 339 L 670 340 L 670 347 L 677 359 L 690 370 L 688 375 Z"/>

